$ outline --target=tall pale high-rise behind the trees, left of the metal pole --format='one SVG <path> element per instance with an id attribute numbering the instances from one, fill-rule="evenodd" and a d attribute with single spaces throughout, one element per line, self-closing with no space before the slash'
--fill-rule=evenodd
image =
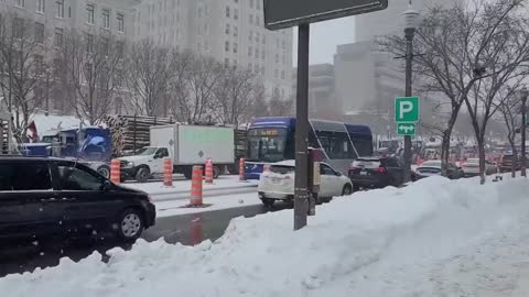
<path id="1" fill-rule="evenodd" d="M 262 0 L 144 0 L 134 40 L 212 56 L 263 78 L 269 95 L 291 96 L 292 30 L 264 29 Z"/>

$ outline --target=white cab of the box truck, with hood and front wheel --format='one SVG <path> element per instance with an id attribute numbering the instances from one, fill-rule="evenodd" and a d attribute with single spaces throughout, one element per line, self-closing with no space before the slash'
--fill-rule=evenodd
<path id="1" fill-rule="evenodd" d="M 125 178 L 136 178 L 145 183 L 153 175 L 163 174 L 163 160 L 170 157 L 165 146 L 145 146 L 132 156 L 120 157 L 121 174 Z"/>

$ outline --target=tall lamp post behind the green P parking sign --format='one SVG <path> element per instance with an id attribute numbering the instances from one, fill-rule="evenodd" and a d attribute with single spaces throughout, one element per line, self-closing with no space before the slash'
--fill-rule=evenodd
<path id="1" fill-rule="evenodd" d="M 413 62 L 413 37 L 417 30 L 419 12 L 410 6 L 404 15 L 404 37 L 406 37 L 406 97 L 411 97 L 412 62 Z M 411 136 L 404 136 L 404 183 L 411 180 Z"/>

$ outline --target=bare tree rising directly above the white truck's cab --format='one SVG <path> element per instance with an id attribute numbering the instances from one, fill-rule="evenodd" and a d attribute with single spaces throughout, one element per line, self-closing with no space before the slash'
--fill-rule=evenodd
<path id="1" fill-rule="evenodd" d="M 133 92 L 137 113 L 156 116 L 166 99 L 171 80 L 171 52 L 144 40 L 132 45 L 128 58 L 127 86 Z"/>

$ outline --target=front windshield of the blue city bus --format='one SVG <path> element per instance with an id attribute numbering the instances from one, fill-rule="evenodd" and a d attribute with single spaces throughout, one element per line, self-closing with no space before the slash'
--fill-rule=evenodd
<path id="1" fill-rule="evenodd" d="M 256 128 L 248 131 L 248 161 L 283 161 L 288 157 L 285 147 L 285 128 Z"/>

